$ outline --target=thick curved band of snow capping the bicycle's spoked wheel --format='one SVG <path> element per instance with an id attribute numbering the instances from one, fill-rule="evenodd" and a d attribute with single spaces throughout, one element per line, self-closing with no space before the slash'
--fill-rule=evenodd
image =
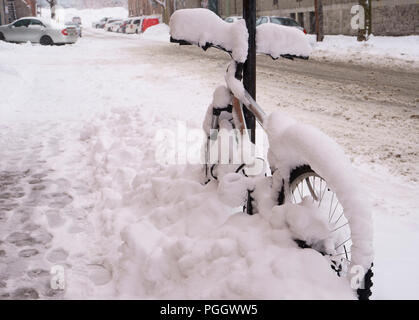
<path id="1" fill-rule="evenodd" d="M 320 130 L 298 124 L 280 111 L 268 117 L 265 127 L 271 165 L 289 173 L 299 165 L 309 164 L 334 190 L 351 227 L 352 264 L 361 265 L 366 272 L 374 255 L 371 208 L 343 150 Z"/>

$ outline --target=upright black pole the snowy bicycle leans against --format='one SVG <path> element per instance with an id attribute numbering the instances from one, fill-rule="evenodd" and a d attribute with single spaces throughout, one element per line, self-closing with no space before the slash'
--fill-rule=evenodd
<path id="1" fill-rule="evenodd" d="M 249 51 L 243 69 L 243 84 L 256 100 L 256 0 L 243 0 L 243 18 L 249 32 Z M 244 116 L 247 129 L 250 130 L 250 140 L 255 143 L 256 119 L 247 109 L 244 109 Z"/>

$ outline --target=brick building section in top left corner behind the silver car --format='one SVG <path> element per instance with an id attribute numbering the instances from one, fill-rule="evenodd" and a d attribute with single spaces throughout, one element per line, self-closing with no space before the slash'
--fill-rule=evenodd
<path id="1" fill-rule="evenodd" d="M 0 24 L 36 16 L 36 0 L 0 0 Z"/>

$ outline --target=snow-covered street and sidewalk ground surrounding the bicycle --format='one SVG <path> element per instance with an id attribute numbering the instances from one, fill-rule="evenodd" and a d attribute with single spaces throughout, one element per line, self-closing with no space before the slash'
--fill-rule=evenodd
<path id="1" fill-rule="evenodd" d="M 196 168 L 155 163 L 157 130 L 198 128 L 227 60 L 101 31 L 66 47 L 0 43 L 1 297 L 351 297 L 262 218 L 230 217 Z M 320 127 L 363 174 L 374 296 L 418 298 L 419 73 L 258 67 L 261 105 Z M 49 286 L 57 264 L 65 294 Z"/>

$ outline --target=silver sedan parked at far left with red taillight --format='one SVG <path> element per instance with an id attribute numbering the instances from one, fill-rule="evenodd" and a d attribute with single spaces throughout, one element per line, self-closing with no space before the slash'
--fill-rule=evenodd
<path id="1" fill-rule="evenodd" d="M 0 26 L 0 40 L 10 42 L 30 41 L 53 45 L 75 43 L 77 39 L 77 29 L 74 26 L 65 26 L 53 20 L 27 17 Z"/>

